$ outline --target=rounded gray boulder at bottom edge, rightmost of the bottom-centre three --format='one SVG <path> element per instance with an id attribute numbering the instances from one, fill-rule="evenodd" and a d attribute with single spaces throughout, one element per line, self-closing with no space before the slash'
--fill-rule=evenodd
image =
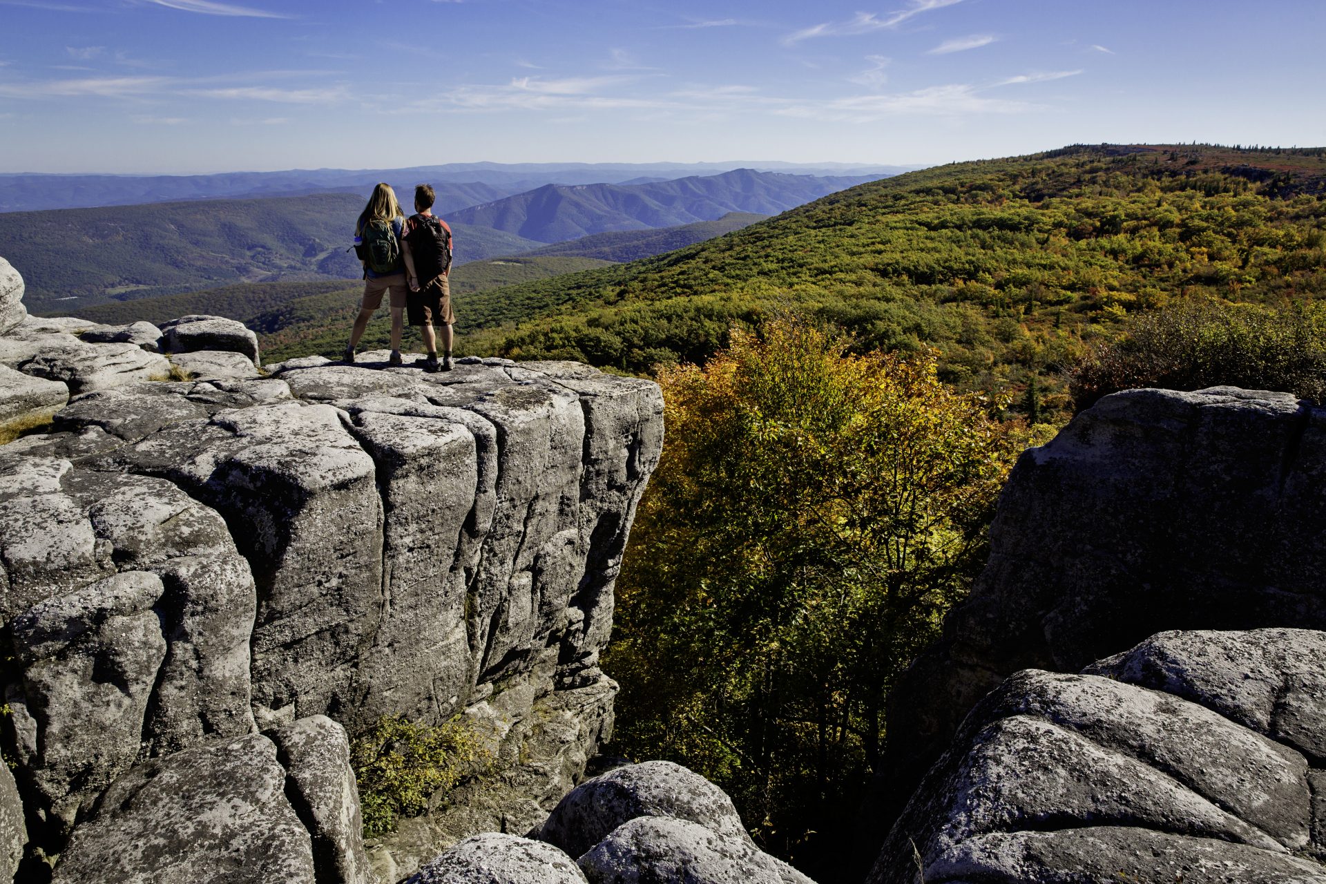
<path id="1" fill-rule="evenodd" d="M 638 816 L 579 857 L 590 884 L 814 884 L 749 839 L 672 816 Z"/>

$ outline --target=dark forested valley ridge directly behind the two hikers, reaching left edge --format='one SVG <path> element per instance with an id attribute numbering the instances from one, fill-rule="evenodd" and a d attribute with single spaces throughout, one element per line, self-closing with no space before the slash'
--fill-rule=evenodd
<path id="1" fill-rule="evenodd" d="M 357 278 L 346 252 L 363 199 L 353 193 L 0 213 L 0 244 L 33 313 L 236 282 Z M 456 261 L 540 245 L 452 225 Z"/>

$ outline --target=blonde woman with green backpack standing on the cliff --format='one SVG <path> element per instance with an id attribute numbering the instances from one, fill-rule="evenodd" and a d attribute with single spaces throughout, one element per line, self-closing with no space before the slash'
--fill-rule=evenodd
<path id="1" fill-rule="evenodd" d="M 373 318 L 382 306 L 383 293 L 390 296 L 391 307 L 391 359 L 390 364 L 400 364 L 400 331 L 404 325 L 406 272 L 415 276 L 414 257 L 404 241 L 406 215 L 400 211 L 396 193 L 390 184 L 382 183 L 373 188 L 369 204 L 359 213 L 354 225 L 354 252 L 363 262 L 363 301 L 359 315 L 354 318 L 350 330 L 350 346 L 345 349 L 345 360 L 354 362 L 354 349 Z"/>

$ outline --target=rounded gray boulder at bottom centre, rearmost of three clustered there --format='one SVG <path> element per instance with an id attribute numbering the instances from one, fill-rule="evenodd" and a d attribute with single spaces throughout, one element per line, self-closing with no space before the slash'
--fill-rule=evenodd
<path id="1" fill-rule="evenodd" d="M 557 804 L 538 838 L 579 856 L 636 816 L 686 819 L 754 847 L 732 799 L 670 761 L 629 765 L 585 781 Z"/>

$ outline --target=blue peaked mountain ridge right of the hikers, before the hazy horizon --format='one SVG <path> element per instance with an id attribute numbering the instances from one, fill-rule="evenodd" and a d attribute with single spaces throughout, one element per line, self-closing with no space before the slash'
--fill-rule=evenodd
<path id="1" fill-rule="evenodd" d="M 611 231 L 640 231 L 713 221 L 729 212 L 780 215 L 878 175 L 814 176 L 757 172 L 680 178 L 648 184 L 546 184 L 473 205 L 451 217 L 526 240 L 561 243 Z"/>

